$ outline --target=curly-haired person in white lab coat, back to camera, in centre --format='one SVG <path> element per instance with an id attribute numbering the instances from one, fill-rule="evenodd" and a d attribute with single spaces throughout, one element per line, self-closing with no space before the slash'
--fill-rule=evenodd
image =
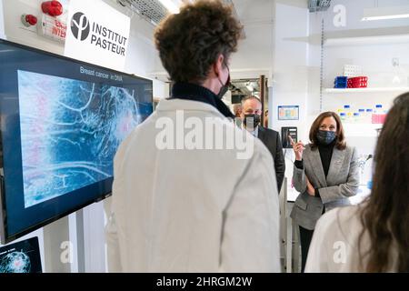
<path id="1" fill-rule="evenodd" d="M 218 0 L 184 5 L 156 28 L 155 45 L 174 85 L 116 153 L 109 271 L 280 272 L 273 158 L 234 125 L 221 100 L 242 30 L 231 6 Z M 215 135 L 197 128 L 207 120 Z M 179 128 L 164 132 L 165 125 L 189 122 L 204 135 L 187 146 L 189 135 L 180 139 Z M 253 145 L 251 155 L 207 147 L 236 135 Z"/>

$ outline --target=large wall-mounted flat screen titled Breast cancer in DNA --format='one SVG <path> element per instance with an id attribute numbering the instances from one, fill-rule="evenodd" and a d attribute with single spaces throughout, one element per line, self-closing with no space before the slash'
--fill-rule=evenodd
<path id="1" fill-rule="evenodd" d="M 109 196 L 113 160 L 153 111 L 135 75 L 0 40 L 2 242 Z"/>

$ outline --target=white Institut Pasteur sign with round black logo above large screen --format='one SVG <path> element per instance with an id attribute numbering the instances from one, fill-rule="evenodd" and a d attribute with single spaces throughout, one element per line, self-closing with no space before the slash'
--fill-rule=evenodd
<path id="1" fill-rule="evenodd" d="M 65 56 L 124 71 L 130 19 L 101 0 L 71 0 Z"/>

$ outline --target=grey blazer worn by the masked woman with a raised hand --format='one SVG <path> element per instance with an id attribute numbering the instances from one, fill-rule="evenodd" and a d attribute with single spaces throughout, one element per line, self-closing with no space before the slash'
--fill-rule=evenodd
<path id="1" fill-rule="evenodd" d="M 299 226 L 312 230 L 324 207 L 325 211 L 329 211 L 350 205 L 348 197 L 358 192 L 359 168 L 356 149 L 351 146 L 344 150 L 334 147 L 326 178 L 318 149 L 313 151 L 311 145 L 305 146 L 303 161 L 304 169 L 294 166 L 293 184 L 300 195 L 295 200 L 290 216 Z M 321 198 L 308 195 L 305 176 L 319 189 Z"/>

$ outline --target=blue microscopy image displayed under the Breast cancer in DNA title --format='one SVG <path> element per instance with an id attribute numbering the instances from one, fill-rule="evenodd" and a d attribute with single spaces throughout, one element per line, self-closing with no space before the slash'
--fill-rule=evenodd
<path id="1" fill-rule="evenodd" d="M 141 121 L 135 91 L 18 71 L 25 207 L 113 176 Z"/>

